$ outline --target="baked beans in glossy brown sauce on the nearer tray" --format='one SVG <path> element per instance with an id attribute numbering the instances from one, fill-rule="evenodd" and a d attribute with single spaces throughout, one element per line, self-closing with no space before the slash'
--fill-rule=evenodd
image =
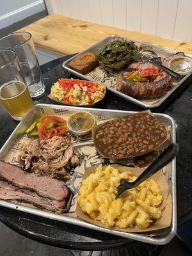
<path id="1" fill-rule="evenodd" d="M 92 129 L 99 154 L 109 159 L 145 155 L 168 140 L 166 125 L 149 113 L 136 113 L 99 124 Z"/>

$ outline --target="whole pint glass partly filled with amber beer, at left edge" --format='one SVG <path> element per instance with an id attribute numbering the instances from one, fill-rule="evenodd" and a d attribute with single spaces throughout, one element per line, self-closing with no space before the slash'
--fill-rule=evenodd
<path id="1" fill-rule="evenodd" d="M 33 107 L 14 51 L 0 51 L 0 102 L 13 119 L 21 120 Z"/>

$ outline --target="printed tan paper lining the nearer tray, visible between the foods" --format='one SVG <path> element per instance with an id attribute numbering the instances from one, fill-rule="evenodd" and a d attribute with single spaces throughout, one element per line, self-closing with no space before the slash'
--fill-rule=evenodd
<path id="1" fill-rule="evenodd" d="M 68 111 L 65 109 L 58 109 L 58 108 L 54 109 L 54 108 L 50 108 L 49 106 L 44 106 L 44 107 L 42 107 L 42 112 L 47 113 L 49 115 L 61 116 L 62 118 L 65 118 L 67 120 L 68 116 L 70 116 L 72 113 L 74 113 L 76 111 Z M 100 115 L 95 115 L 95 118 L 96 118 L 97 124 L 101 124 L 103 122 L 113 119 L 113 118 L 108 118 L 107 116 L 104 115 L 104 113 L 100 114 Z M 32 122 L 33 122 L 33 120 L 31 120 L 31 123 Z M 168 129 L 168 131 L 170 131 L 170 127 L 167 127 L 167 129 Z M 95 147 L 93 145 L 93 140 L 92 140 L 90 134 L 83 136 L 83 137 L 81 137 L 81 136 L 75 136 L 75 137 L 76 138 L 72 142 L 72 145 L 81 154 L 81 157 L 83 160 L 81 161 L 80 166 L 77 166 L 75 168 L 74 172 L 72 173 L 72 178 L 67 183 L 67 186 L 69 186 L 69 188 L 74 192 L 74 198 L 72 200 L 72 205 L 70 207 L 70 211 L 63 215 L 77 218 L 77 214 L 76 214 L 77 200 L 76 199 L 77 199 L 77 193 L 79 191 L 79 186 L 81 184 L 81 180 L 83 179 L 85 168 L 90 167 L 90 166 L 99 166 L 100 164 L 115 165 L 117 160 L 104 159 L 104 158 L 100 157 L 100 155 L 97 153 L 97 150 L 95 149 Z M 82 140 L 82 138 L 83 138 L 83 140 Z M 17 161 L 17 156 L 19 154 L 20 143 L 22 143 L 25 140 L 29 140 L 29 138 L 26 135 L 24 135 L 22 138 L 20 138 L 20 140 L 15 141 L 15 145 L 13 145 L 13 147 L 10 149 L 8 154 L 6 154 L 6 156 L 4 156 L 2 160 L 6 161 L 7 163 L 18 165 L 19 162 Z M 168 140 L 165 141 L 160 147 L 156 148 L 156 150 L 155 150 L 156 156 L 161 154 L 161 152 L 166 147 L 168 147 Z M 93 156 L 93 157 L 90 157 L 90 156 Z M 106 163 L 106 161 L 107 161 L 107 163 Z M 134 169 L 136 167 L 136 164 L 134 163 L 134 159 L 118 160 L 118 164 L 123 164 L 126 166 L 133 166 L 132 172 L 134 173 Z M 166 167 L 164 167 L 162 169 L 162 171 L 163 171 L 163 173 L 166 173 Z M 18 203 L 18 202 L 17 202 L 17 204 L 26 205 L 24 203 Z M 31 204 L 28 204 L 27 206 L 33 207 L 33 205 L 31 205 Z M 45 211 L 45 210 L 42 210 L 42 211 Z"/>

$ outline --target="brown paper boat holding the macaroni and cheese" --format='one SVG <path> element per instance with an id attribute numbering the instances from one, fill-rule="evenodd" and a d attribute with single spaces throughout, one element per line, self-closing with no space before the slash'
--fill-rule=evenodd
<path id="1" fill-rule="evenodd" d="M 144 170 L 142 168 L 130 168 L 125 166 L 115 166 L 115 165 L 113 165 L 113 167 L 118 168 L 119 172 L 129 171 L 136 176 L 140 175 L 140 173 L 142 173 Z M 94 173 L 96 168 L 97 167 L 86 168 L 83 180 L 86 179 L 86 177 L 88 177 L 91 173 Z M 161 193 L 163 195 L 163 203 L 160 206 L 160 209 L 162 211 L 161 218 L 156 222 L 151 223 L 148 228 L 145 228 L 145 229 L 130 228 L 130 227 L 129 228 L 118 228 L 118 227 L 109 228 L 106 225 L 104 225 L 101 221 L 92 220 L 92 218 L 90 218 L 88 214 L 85 214 L 81 210 L 81 207 L 79 207 L 79 204 L 77 204 L 77 207 L 76 207 L 76 214 L 82 220 L 88 221 L 93 225 L 97 225 L 99 227 L 104 227 L 108 229 L 113 229 L 116 231 L 122 231 L 122 232 L 134 232 L 134 233 L 151 232 L 153 230 L 160 230 L 162 228 L 170 227 L 172 223 L 172 196 L 170 195 L 169 187 L 166 182 L 166 175 L 163 174 L 163 172 L 157 172 L 156 174 L 152 175 L 152 177 L 150 177 L 149 179 L 154 179 L 158 182 L 159 187 L 161 188 Z"/>

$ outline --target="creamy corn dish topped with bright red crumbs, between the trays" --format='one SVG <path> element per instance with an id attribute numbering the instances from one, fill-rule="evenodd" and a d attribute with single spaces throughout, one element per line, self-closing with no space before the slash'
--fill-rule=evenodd
<path id="1" fill-rule="evenodd" d="M 86 105 L 98 102 L 106 92 L 106 86 L 78 79 L 59 79 L 51 87 L 51 97 L 57 101 Z"/>

